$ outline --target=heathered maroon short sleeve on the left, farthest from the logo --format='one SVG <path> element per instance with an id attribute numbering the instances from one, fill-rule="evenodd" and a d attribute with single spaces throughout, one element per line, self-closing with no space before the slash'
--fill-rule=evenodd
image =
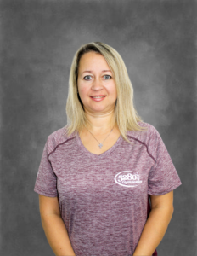
<path id="1" fill-rule="evenodd" d="M 57 177 L 53 172 L 50 161 L 48 160 L 48 141 L 44 146 L 41 163 L 37 172 L 37 179 L 34 191 L 40 195 L 56 197 Z"/>

